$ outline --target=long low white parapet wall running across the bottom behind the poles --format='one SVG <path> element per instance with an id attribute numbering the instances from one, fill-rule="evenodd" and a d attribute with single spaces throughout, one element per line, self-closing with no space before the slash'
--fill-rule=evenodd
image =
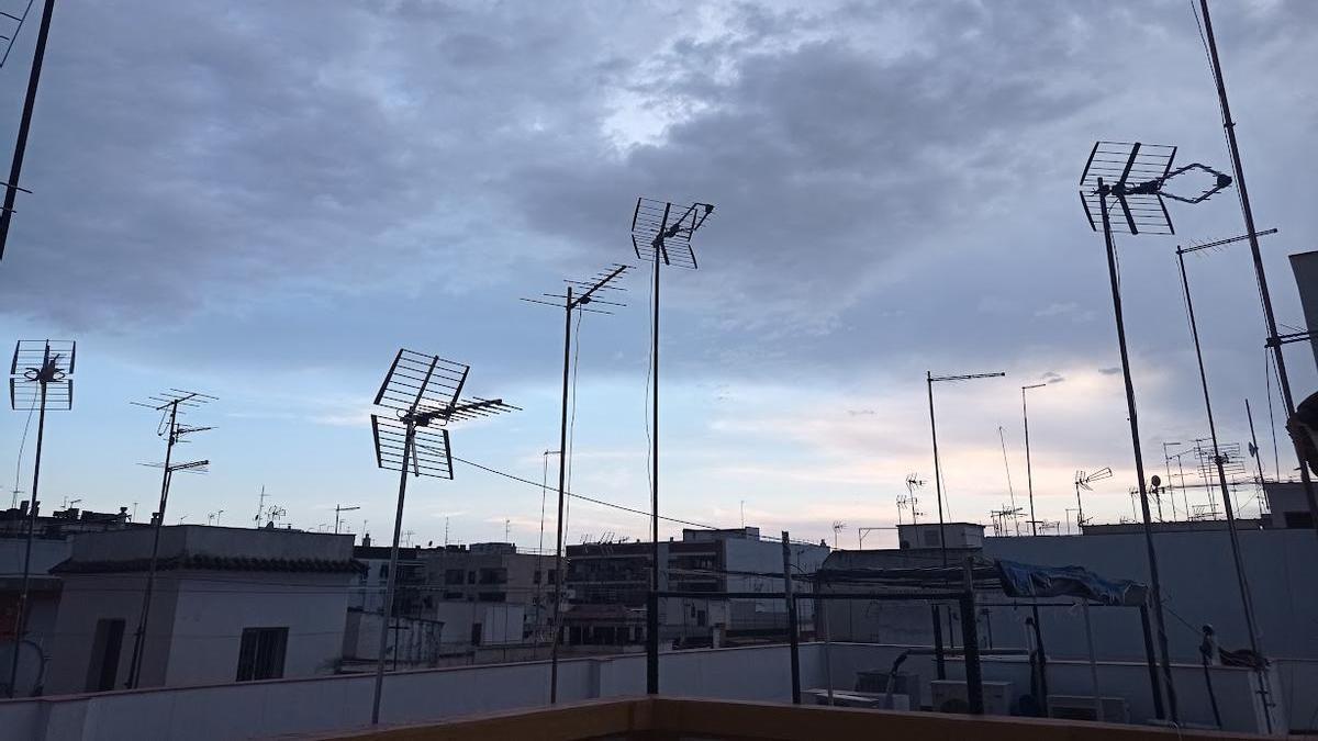
<path id="1" fill-rule="evenodd" d="M 851 688 L 859 670 L 884 670 L 902 646 L 834 643 L 828 655 L 821 643 L 801 646 L 801 688 Z M 826 661 L 825 661 L 826 659 Z M 559 697 L 577 701 L 645 694 L 645 657 L 617 655 L 571 659 L 559 667 Z M 830 676 L 825 674 L 825 663 Z M 932 657 L 912 657 L 904 668 L 934 678 Z M 962 665 L 949 659 L 948 676 L 963 676 Z M 1199 667 L 1176 667 L 1184 719 L 1211 723 Z M 1224 725 L 1252 730 L 1249 672 L 1214 670 L 1214 684 Z M 402 671 L 385 679 L 382 720 L 387 724 L 424 723 L 445 717 L 531 708 L 548 700 L 548 662 Z M 1028 691 L 1028 667 L 1021 662 L 985 662 L 985 678 L 1008 680 L 1016 694 Z M 1089 692 L 1089 667 L 1081 662 L 1049 665 L 1053 694 Z M 66 695 L 0 701 L 0 729 L 5 738 L 32 741 L 111 741 L 119 738 L 187 738 L 221 741 L 269 738 L 291 733 L 318 733 L 362 728 L 370 717 L 373 678 L 324 676 L 275 679 L 96 695 Z M 1152 717 L 1148 672 L 1141 665 L 1101 663 L 1104 695 L 1127 697 L 1131 720 Z M 660 691 L 689 697 L 791 701 L 791 670 L 784 645 L 745 649 L 706 649 L 666 653 L 660 663 Z M 925 701 L 929 694 L 925 691 Z"/>

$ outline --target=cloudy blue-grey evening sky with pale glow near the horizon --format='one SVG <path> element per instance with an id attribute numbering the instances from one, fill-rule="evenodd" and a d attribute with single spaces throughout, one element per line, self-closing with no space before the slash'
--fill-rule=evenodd
<path id="1" fill-rule="evenodd" d="M 1278 229 L 1277 316 L 1298 327 L 1286 256 L 1318 228 L 1318 5 L 1213 11 L 1259 227 Z M 34 36 L 0 67 L 0 141 Z M 393 353 L 467 363 L 473 394 L 521 410 L 455 426 L 455 456 L 532 484 L 467 463 L 414 479 L 405 541 L 548 546 L 534 483 L 556 472 L 563 316 L 519 299 L 637 265 L 637 196 L 700 200 L 700 269 L 660 276 L 664 516 L 850 547 L 909 521 L 895 502 L 916 473 L 936 518 L 925 372 L 1000 370 L 934 388 L 949 518 L 1028 506 L 1020 386 L 1052 381 L 1029 392 L 1036 517 L 1065 531 L 1074 472 L 1111 467 L 1083 506 L 1116 522 L 1136 477 L 1077 196 L 1099 138 L 1230 169 L 1189 3 L 61 3 L 0 344 L 78 340 L 75 407 L 47 417 L 47 508 L 146 519 L 159 469 L 141 464 L 165 444 L 129 402 L 179 388 L 217 397 L 188 418 L 215 429 L 179 448 L 210 472 L 175 477 L 166 522 L 253 526 L 264 488 L 281 526 L 358 506 L 343 527 L 376 542 L 397 475 L 369 414 Z M 1118 244 L 1151 473 L 1162 443 L 1207 434 L 1174 248 L 1244 232 L 1234 190 L 1170 210 L 1176 236 Z M 1248 398 L 1271 477 L 1269 385 L 1281 413 L 1248 248 L 1189 273 L 1222 439 L 1248 440 Z M 627 307 L 581 318 L 569 487 L 641 510 L 650 278 L 637 265 Z M 1313 353 L 1289 345 L 1288 364 L 1304 398 Z M 26 410 L 0 417 L 5 489 L 30 489 L 34 438 Z M 565 539 L 647 531 L 575 501 Z"/>

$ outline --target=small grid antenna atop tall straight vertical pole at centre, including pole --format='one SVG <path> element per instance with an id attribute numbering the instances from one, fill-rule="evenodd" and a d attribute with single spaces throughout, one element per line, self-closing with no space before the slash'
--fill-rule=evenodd
<path id="1" fill-rule="evenodd" d="M 650 595 L 646 603 L 646 694 L 659 694 L 659 273 L 663 265 L 695 270 L 696 251 L 691 237 L 705 224 L 714 207 L 709 203 L 677 206 L 671 200 L 638 198 L 631 212 L 631 249 L 637 260 L 648 260 L 654 269 L 650 315 Z"/>

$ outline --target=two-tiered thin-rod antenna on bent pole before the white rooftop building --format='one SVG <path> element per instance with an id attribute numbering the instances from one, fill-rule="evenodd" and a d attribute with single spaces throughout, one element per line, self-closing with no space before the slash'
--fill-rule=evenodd
<path id="1" fill-rule="evenodd" d="M 183 389 L 166 389 L 156 396 L 146 397 L 146 401 L 132 402 L 134 406 L 145 406 L 146 409 L 159 413 L 161 419 L 156 427 L 156 434 L 165 438 L 165 461 L 149 464 L 153 468 L 162 469 L 161 501 L 156 513 L 152 516 L 152 558 L 146 567 L 146 589 L 142 593 L 142 610 L 137 618 L 137 633 L 133 636 L 133 657 L 128 665 L 127 687 L 129 690 L 134 690 L 138 682 L 141 682 L 142 654 L 146 653 L 146 625 L 150 618 L 152 593 L 156 589 L 156 568 L 159 560 L 161 527 L 165 526 L 165 505 L 169 504 L 169 492 L 170 485 L 174 481 L 174 473 L 178 471 L 185 473 L 203 473 L 211 463 L 210 460 L 191 460 L 187 463 L 174 461 L 174 446 L 187 442 L 185 440 L 187 435 L 204 432 L 212 429 L 185 425 L 181 418 L 188 411 L 212 401 L 217 400 L 210 394 L 186 392 Z"/>

